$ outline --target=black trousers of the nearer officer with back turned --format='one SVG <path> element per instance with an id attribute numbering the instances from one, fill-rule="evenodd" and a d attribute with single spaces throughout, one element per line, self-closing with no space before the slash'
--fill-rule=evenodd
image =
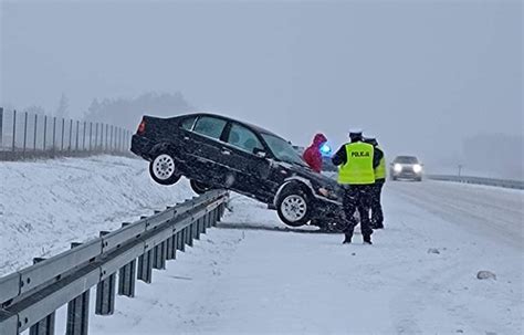
<path id="1" fill-rule="evenodd" d="M 369 207 L 371 202 L 373 185 L 350 185 L 345 186 L 343 208 L 346 217 L 346 237 L 353 237 L 358 221 L 355 219 L 355 211 L 360 216 L 360 231 L 364 237 L 370 237 L 373 229 L 369 221 Z"/>

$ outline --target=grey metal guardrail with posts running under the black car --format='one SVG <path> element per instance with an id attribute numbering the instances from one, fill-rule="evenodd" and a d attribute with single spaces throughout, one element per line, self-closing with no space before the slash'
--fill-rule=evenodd
<path id="1" fill-rule="evenodd" d="M 228 198 L 227 191 L 209 191 L 0 278 L 0 334 L 54 334 L 55 311 L 67 304 L 66 334 L 87 335 L 91 287 L 96 285 L 95 314 L 113 314 L 116 293 L 133 297 L 136 279 L 151 283 L 153 269 L 166 269 L 177 250 L 220 221 Z"/>

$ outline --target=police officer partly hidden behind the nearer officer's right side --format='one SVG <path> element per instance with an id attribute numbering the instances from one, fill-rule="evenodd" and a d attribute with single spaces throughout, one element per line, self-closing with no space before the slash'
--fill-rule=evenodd
<path id="1" fill-rule="evenodd" d="M 380 198 L 382 195 L 384 182 L 386 181 L 386 157 L 382 148 L 378 145 L 376 137 L 367 136 L 364 142 L 373 145 L 375 150 L 380 151 L 382 156 L 380 163 L 375 168 L 375 185 L 373 186 L 371 191 L 371 228 L 384 229 L 384 213 Z"/>

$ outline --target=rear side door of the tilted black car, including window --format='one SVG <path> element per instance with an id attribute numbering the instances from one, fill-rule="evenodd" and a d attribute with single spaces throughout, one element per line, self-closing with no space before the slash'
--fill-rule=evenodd
<path id="1" fill-rule="evenodd" d="M 189 178 L 211 184 L 214 186 L 224 186 L 226 172 L 228 168 L 222 161 L 222 134 L 228 122 L 220 117 L 202 115 L 199 116 L 188 132 L 190 147 L 193 150 L 193 161 L 188 161 L 191 167 Z"/>

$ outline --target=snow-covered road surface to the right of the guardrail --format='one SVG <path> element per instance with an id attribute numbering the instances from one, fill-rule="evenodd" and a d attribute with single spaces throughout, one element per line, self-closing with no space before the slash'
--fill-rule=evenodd
<path id="1" fill-rule="evenodd" d="M 470 231 L 479 224 L 471 213 L 447 221 L 405 198 L 418 188 L 433 202 L 450 187 L 462 201 L 460 189 L 471 186 L 389 185 L 387 229 L 373 247 L 359 235 L 342 245 L 339 234 L 290 231 L 237 197 L 219 228 L 153 285 L 139 283 L 115 316 L 95 317 L 93 334 L 522 334 L 522 243 Z M 522 211 L 513 224 L 522 227 Z M 497 279 L 480 281 L 480 270 Z"/>

